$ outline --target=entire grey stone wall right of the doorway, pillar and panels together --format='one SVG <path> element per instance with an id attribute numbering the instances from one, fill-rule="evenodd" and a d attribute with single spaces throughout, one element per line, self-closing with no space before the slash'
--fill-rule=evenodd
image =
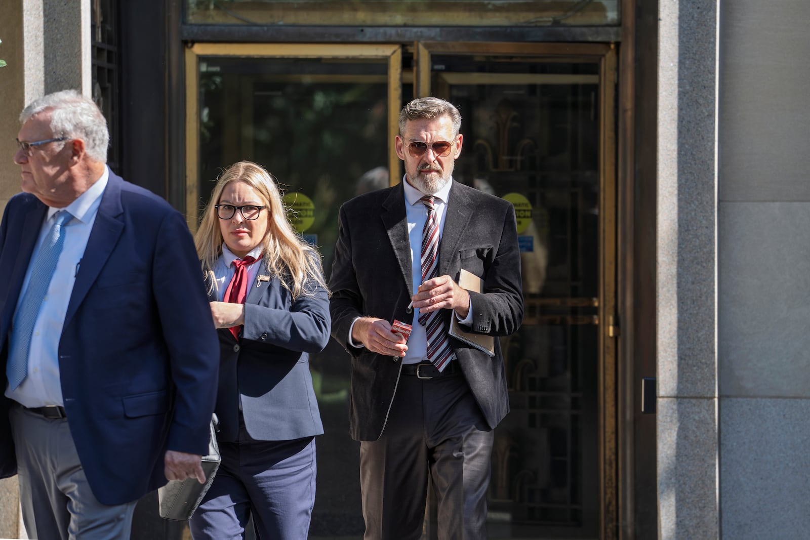
<path id="1" fill-rule="evenodd" d="M 659 538 L 810 528 L 810 5 L 659 2 Z"/>

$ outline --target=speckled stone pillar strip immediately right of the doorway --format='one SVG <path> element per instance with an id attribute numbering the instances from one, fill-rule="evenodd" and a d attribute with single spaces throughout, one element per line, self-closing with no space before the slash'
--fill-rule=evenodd
<path id="1" fill-rule="evenodd" d="M 718 538 L 717 2 L 659 1 L 659 538 Z"/>

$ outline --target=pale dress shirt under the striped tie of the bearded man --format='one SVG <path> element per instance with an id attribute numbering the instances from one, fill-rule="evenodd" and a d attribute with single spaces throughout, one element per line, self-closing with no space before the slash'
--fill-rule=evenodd
<path id="1" fill-rule="evenodd" d="M 441 235 L 445 230 L 445 215 L 447 214 L 447 202 L 450 198 L 450 187 L 453 181 L 439 189 L 437 193 L 433 193 L 433 208 L 439 220 L 439 243 L 441 244 Z M 405 215 L 407 216 L 407 233 L 408 241 L 411 244 L 411 286 L 412 291 L 416 294 L 419 286 L 422 284 L 422 230 L 424 229 L 424 222 L 428 220 L 428 207 L 424 206 L 424 202 L 420 202 L 420 198 L 424 197 L 424 193 L 420 192 L 412 185 L 408 184 L 407 177 L 403 176 L 403 187 L 405 189 Z M 470 325 L 472 322 L 472 305 L 467 317 L 461 318 L 455 315 L 458 321 L 464 325 Z M 354 323 L 349 328 L 349 343 L 353 347 L 362 347 L 361 343 L 356 343 L 352 340 L 352 328 Z M 389 321 L 393 322 L 393 321 Z M 423 325 L 419 324 L 419 309 L 414 308 L 413 319 L 411 321 L 401 321 L 411 324 L 411 335 L 407 338 L 407 351 L 403 358 L 403 364 L 419 364 L 420 362 L 428 361 L 428 334 Z M 450 330 L 450 329 L 447 329 Z M 454 355 L 455 356 L 455 355 Z"/>

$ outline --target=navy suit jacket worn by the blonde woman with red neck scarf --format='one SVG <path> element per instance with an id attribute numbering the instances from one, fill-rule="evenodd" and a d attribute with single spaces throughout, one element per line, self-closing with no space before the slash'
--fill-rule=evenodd
<path id="1" fill-rule="evenodd" d="M 245 427 L 255 440 L 292 440 L 323 433 L 309 373 L 309 353 L 329 342 L 329 296 L 313 286 L 295 301 L 278 277 L 258 271 L 245 300 L 240 339 L 227 328 L 220 335 L 217 438 L 236 441 L 239 399 Z M 211 292 L 209 300 L 217 300 Z"/>

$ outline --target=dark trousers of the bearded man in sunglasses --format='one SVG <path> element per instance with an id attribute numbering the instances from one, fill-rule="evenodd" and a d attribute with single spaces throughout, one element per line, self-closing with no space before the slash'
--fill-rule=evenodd
<path id="1" fill-rule="evenodd" d="M 403 375 L 382 436 L 360 443 L 365 540 L 487 538 L 494 432 L 461 373 Z M 428 485 L 437 521 L 425 523 Z"/>

